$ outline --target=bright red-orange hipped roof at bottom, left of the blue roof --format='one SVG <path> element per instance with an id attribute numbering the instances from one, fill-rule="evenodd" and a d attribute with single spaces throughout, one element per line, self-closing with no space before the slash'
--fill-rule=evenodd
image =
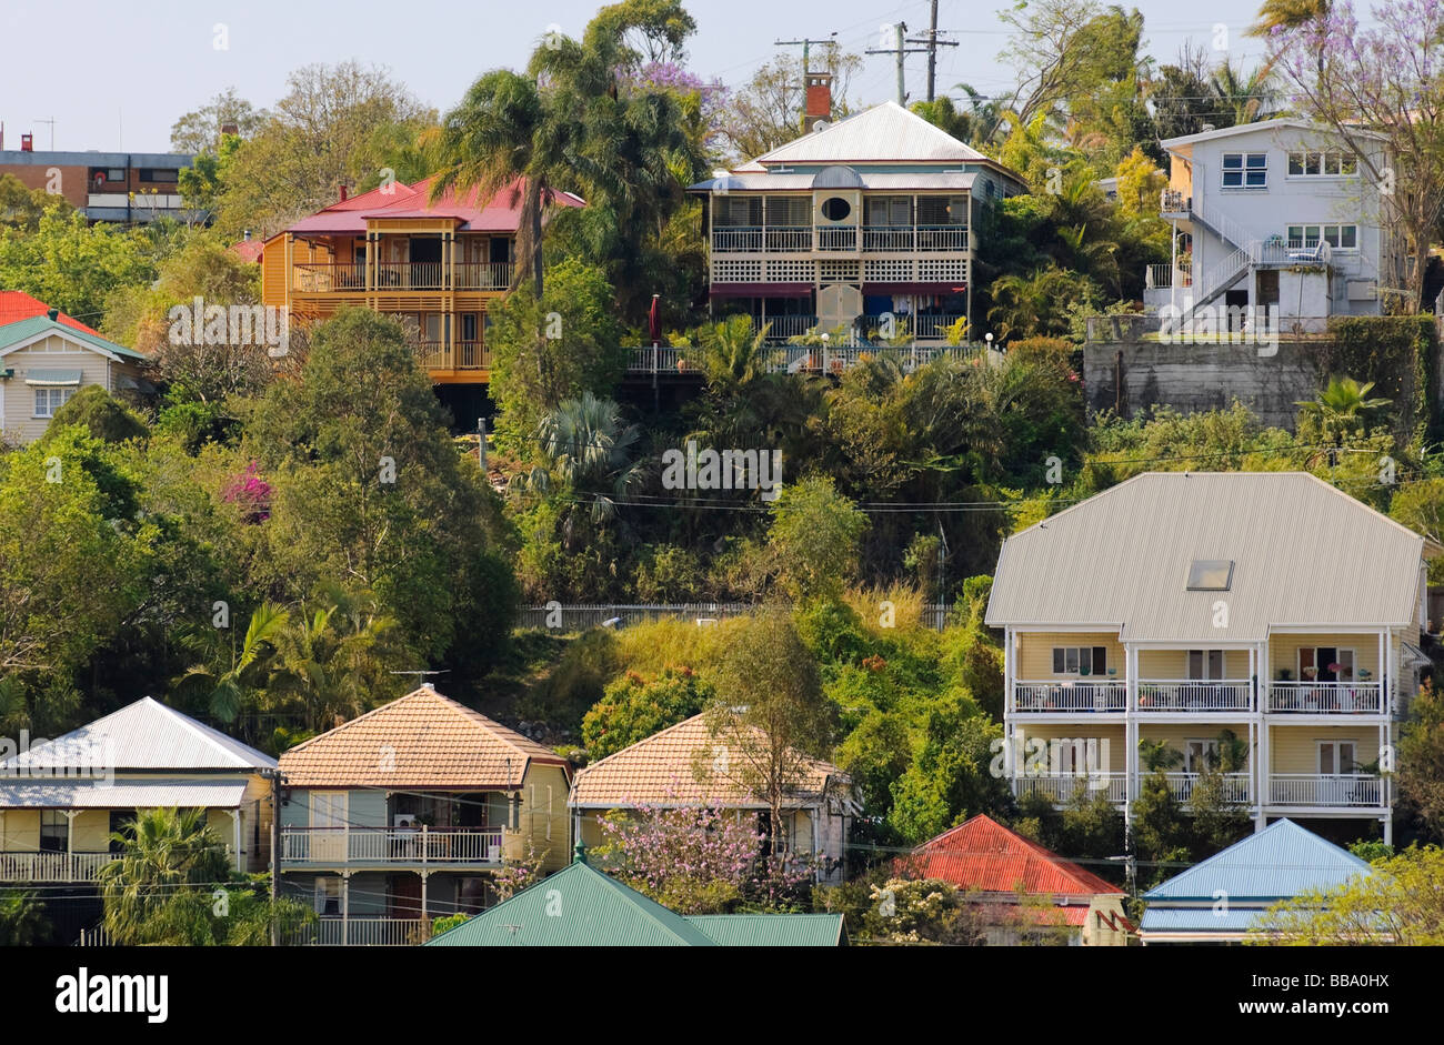
<path id="1" fill-rule="evenodd" d="M 960 889 L 1048 895 L 1122 895 L 1071 860 L 979 814 L 913 850 L 900 865 L 920 878 L 940 878 Z"/>

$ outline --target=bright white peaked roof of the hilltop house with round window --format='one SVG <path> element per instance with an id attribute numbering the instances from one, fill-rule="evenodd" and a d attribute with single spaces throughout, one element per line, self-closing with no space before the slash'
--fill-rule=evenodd
<path id="1" fill-rule="evenodd" d="M 758 156 L 738 172 L 786 163 L 991 163 L 976 149 L 895 101 L 838 120 Z"/>

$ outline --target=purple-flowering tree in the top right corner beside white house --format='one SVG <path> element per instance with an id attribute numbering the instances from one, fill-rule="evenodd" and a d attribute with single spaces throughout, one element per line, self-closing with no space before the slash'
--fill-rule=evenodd
<path id="1" fill-rule="evenodd" d="M 1350 0 L 1265 0 L 1253 32 L 1292 107 L 1353 153 L 1359 202 L 1378 199 L 1391 237 L 1380 280 L 1396 292 L 1395 310 L 1418 312 L 1444 208 L 1444 3 L 1380 0 L 1369 13 L 1372 25 L 1360 25 Z"/>

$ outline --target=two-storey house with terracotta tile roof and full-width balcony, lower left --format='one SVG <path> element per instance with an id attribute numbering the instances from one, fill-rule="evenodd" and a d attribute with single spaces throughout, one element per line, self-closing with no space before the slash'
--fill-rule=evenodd
<path id="1" fill-rule="evenodd" d="M 570 766 L 449 700 L 409 693 L 280 756 L 277 872 L 319 944 L 419 943 L 491 906 L 508 860 L 566 866 Z"/>

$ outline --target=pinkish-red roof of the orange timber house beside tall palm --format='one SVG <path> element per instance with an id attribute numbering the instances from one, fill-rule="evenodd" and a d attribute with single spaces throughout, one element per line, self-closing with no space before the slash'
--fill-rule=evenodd
<path id="1" fill-rule="evenodd" d="M 469 232 L 516 232 L 521 224 L 520 186 L 521 179 L 517 179 L 484 201 L 475 188 L 461 193 L 448 189 L 432 204 L 430 178 L 423 178 L 414 185 L 396 182 L 362 192 L 345 202 L 332 204 L 302 218 L 286 231 L 313 235 L 361 234 L 365 232 L 367 218 L 446 217 L 455 218 L 459 222 L 458 228 Z M 556 206 L 583 205 L 579 196 L 556 189 L 552 191 L 550 199 Z"/>

